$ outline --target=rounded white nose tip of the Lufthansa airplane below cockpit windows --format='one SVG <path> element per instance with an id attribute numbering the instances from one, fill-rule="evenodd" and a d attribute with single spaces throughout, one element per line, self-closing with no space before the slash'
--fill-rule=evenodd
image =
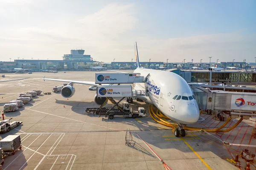
<path id="1" fill-rule="evenodd" d="M 198 106 L 195 104 L 186 105 L 186 107 L 183 107 L 182 112 L 183 116 L 186 117 L 184 119 L 186 124 L 193 124 L 199 119 L 200 111 Z"/>

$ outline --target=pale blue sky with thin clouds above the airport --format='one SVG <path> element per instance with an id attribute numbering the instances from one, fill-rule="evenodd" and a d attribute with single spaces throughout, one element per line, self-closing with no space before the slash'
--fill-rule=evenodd
<path id="1" fill-rule="evenodd" d="M 255 62 L 255 0 L 0 0 L 0 61 Z"/>

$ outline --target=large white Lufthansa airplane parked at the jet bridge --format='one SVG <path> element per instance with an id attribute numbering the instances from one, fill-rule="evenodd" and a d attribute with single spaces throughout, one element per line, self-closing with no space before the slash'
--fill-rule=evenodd
<path id="1" fill-rule="evenodd" d="M 135 59 L 137 68 L 134 73 L 140 73 L 140 76 L 145 77 L 144 83 L 135 83 L 135 90 L 145 90 L 149 96 L 137 96 L 138 99 L 146 103 L 154 105 L 165 116 L 178 123 L 175 129 L 175 136 L 185 136 L 183 125 L 194 124 L 199 119 L 198 103 L 195 99 L 192 89 L 189 84 L 180 77 L 170 71 L 160 71 L 140 67 L 139 55 L 137 50 L 137 42 L 135 42 Z M 70 98 L 75 94 L 74 83 L 96 85 L 95 82 L 65 80 L 65 79 L 46 79 L 60 82 L 69 82 L 67 86 L 61 89 L 61 95 L 65 98 Z M 97 105 L 102 105 L 106 98 L 98 98 L 94 96 L 94 102 Z"/>

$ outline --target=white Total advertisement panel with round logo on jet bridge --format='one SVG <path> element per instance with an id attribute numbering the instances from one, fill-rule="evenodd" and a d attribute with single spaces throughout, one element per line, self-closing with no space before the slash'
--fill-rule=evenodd
<path id="1" fill-rule="evenodd" d="M 232 95 L 230 109 L 255 111 L 256 96 Z"/>

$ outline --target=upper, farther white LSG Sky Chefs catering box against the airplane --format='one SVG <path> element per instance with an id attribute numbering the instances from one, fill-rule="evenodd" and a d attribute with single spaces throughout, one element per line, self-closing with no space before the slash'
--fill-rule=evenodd
<path id="1" fill-rule="evenodd" d="M 139 73 L 96 73 L 96 84 L 111 84 L 111 83 L 134 83 L 144 82 L 144 77 Z"/>

